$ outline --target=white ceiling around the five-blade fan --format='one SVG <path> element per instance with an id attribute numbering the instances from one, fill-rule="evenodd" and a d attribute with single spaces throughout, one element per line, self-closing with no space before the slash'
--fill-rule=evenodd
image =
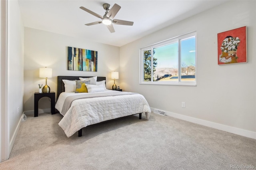
<path id="1" fill-rule="evenodd" d="M 19 0 L 25 27 L 122 46 L 161 30 L 190 16 L 218 6 L 227 0 Z M 81 10 L 84 6 L 103 16 L 102 4 L 118 4 L 114 19 L 133 21 L 133 26 L 113 25 L 110 33 L 104 24 Z"/>

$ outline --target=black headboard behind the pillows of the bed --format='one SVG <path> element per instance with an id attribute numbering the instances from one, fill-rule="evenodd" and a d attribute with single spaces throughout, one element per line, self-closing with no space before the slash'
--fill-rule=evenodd
<path id="1" fill-rule="evenodd" d="M 57 76 L 57 99 L 58 99 L 60 93 L 65 91 L 65 86 L 64 86 L 62 79 L 79 80 L 79 77 L 89 78 L 89 77 L 93 77 L 93 76 L 89 76 L 89 77 L 88 76 Z M 97 81 L 102 81 L 102 80 L 106 80 L 106 77 L 97 77 Z"/>

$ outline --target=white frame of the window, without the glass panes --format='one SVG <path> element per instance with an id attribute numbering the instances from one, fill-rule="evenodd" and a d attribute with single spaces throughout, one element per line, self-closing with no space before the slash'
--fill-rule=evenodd
<path id="1" fill-rule="evenodd" d="M 158 42 L 152 45 L 148 45 L 146 47 L 143 47 L 140 49 L 140 84 L 146 84 L 146 85 L 180 85 L 180 86 L 196 86 L 196 73 L 195 73 L 195 81 L 181 81 L 181 56 L 180 56 L 180 40 L 186 39 L 191 36 L 195 36 L 196 39 L 196 32 L 191 32 L 188 34 L 184 34 L 182 36 L 177 36 L 174 38 L 170 38 L 168 40 Z M 173 42 L 178 42 L 178 81 L 153 81 L 153 65 L 151 64 L 151 81 L 144 81 L 144 53 L 143 51 L 151 50 L 151 56 L 153 56 L 153 49 L 156 47 L 161 47 L 164 45 L 168 45 Z M 196 45 L 196 43 L 195 43 Z M 196 47 L 195 47 L 196 48 Z M 195 52 L 196 53 L 196 52 Z M 196 54 L 195 54 L 196 55 Z M 151 57 L 151 63 L 152 63 L 153 57 Z M 196 58 L 195 58 L 196 60 Z M 196 67 L 196 61 L 195 61 L 195 67 Z M 197 69 L 196 69 L 197 70 Z"/>

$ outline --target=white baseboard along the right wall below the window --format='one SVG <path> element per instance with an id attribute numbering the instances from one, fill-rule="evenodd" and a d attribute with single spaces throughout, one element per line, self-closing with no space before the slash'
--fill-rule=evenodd
<path id="1" fill-rule="evenodd" d="M 150 109 L 151 109 L 151 111 L 154 110 L 154 108 L 150 108 Z M 166 111 L 166 115 L 170 116 L 170 117 L 175 117 L 177 119 L 181 119 L 181 120 L 184 120 L 184 121 L 196 123 L 196 124 L 199 124 L 199 125 L 204 125 L 206 127 L 216 128 L 218 130 L 223 130 L 223 131 L 226 131 L 226 132 L 230 132 L 230 133 L 238 134 L 238 135 L 245 136 L 245 137 L 248 137 L 248 138 L 256 139 L 256 132 L 252 132 L 252 131 L 249 131 L 249 130 L 244 130 L 244 129 L 236 128 L 236 127 L 230 127 L 230 126 L 227 126 L 227 125 L 222 125 L 222 124 L 219 124 L 219 123 L 205 121 L 205 120 L 202 120 L 202 119 L 197 119 L 197 118 L 194 118 L 194 117 L 180 115 L 178 113 L 172 113 L 172 112 L 168 112 L 168 111 Z"/>

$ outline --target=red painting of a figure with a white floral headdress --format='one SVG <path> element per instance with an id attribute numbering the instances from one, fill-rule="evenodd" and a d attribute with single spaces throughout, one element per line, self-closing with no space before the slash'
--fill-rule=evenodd
<path id="1" fill-rule="evenodd" d="M 246 26 L 219 33 L 218 65 L 246 62 Z"/>

